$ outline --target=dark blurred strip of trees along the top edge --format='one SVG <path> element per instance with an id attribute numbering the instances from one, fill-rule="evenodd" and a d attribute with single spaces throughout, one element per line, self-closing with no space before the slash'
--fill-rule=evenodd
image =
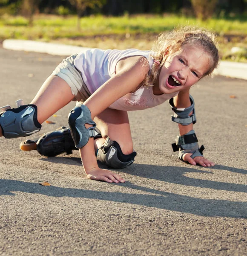
<path id="1" fill-rule="evenodd" d="M 0 0 L 1 13 L 17 14 L 26 0 Z M 29 1 L 29 0 L 28 0 Z M 247 0 L 30 0 L 28 12 L 32 13 L 32 5 L 35 4 L 35 10 L 42 13 L 65 13 L 90 15 L 101 13 L 103 15 L 123 15 L 138 13 L 176 13 L 191 16 L 193 14 L 205 19 L 214 15 L 228 14 L 247 14 Z M 194 8 L 192 8 L 194 6 Z M 24 8 L 25 9 L 25 8 Z M 57 10 L 60 12 L 57 12 Z M 195 9 L 195 12 L 193 12 Z M 14 10 L 14 11 L 13 11 Z M 26 12 L 26 14 L 28 13 Z M 78 18 L 79 20 L 79 18 Z M 31 22 L 31 20 L 30 20 Z"/>

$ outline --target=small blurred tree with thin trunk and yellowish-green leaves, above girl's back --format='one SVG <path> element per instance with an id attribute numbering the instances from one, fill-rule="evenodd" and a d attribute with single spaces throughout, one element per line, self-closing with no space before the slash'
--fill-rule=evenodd
<path id="1" fill-rule="evenodd" d="M 69 0 L 69 2 L 72 4 L 72 6 L 75 6 L 78 17 L 77 27 L 78 30 L 80 30 L 80 18 L 85 12 L 86 8 L 95 8 L 95 6 L 102 7 L 103 4 L 106 3 L 106 0 Z"/>

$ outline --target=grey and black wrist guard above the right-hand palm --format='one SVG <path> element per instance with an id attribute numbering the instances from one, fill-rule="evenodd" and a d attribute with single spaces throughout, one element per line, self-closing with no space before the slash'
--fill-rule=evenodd
<path id="1" fill-rule="evenodd" d="M 201 157 L 205 148 L 204 145 L 201 145 L 201 148 L 199 148 L 195 131 L 191 130 L 187 134 L 177 136 L 176 143 L 172 144 L 172 149 L 173 152 L 179 150 L 179 159 L 183 162 L 187 162 L 183 160 L 185 153 L 192 153 L 191 158 Z"/>

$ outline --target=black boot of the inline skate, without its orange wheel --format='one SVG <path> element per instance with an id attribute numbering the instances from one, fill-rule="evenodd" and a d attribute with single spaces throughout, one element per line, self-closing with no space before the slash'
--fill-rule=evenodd
<path id="1" fill-rule="evenodd" d="M 55 157 L 65 152 L 72 154 L 74 149 L 78 150 L 75 147 L 70 129 L 65 126 L 43 134 L 37 141 L 37 151 L 46 157 Z"/>

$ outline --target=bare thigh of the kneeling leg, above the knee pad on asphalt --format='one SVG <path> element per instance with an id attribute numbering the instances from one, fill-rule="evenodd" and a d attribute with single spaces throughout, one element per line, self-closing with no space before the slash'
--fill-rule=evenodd
<path id="1" fill-rule="evenodd" d="M 126 111 L 106 108 L 95 117 L 94 121 L 102 134 L 101 139 L 95 140 L 95 148 L 100 148 L 105 139 L 110 137 L 111 140 L 118 142 L 124 154 L 133 152 L 129 118 Z"/>

